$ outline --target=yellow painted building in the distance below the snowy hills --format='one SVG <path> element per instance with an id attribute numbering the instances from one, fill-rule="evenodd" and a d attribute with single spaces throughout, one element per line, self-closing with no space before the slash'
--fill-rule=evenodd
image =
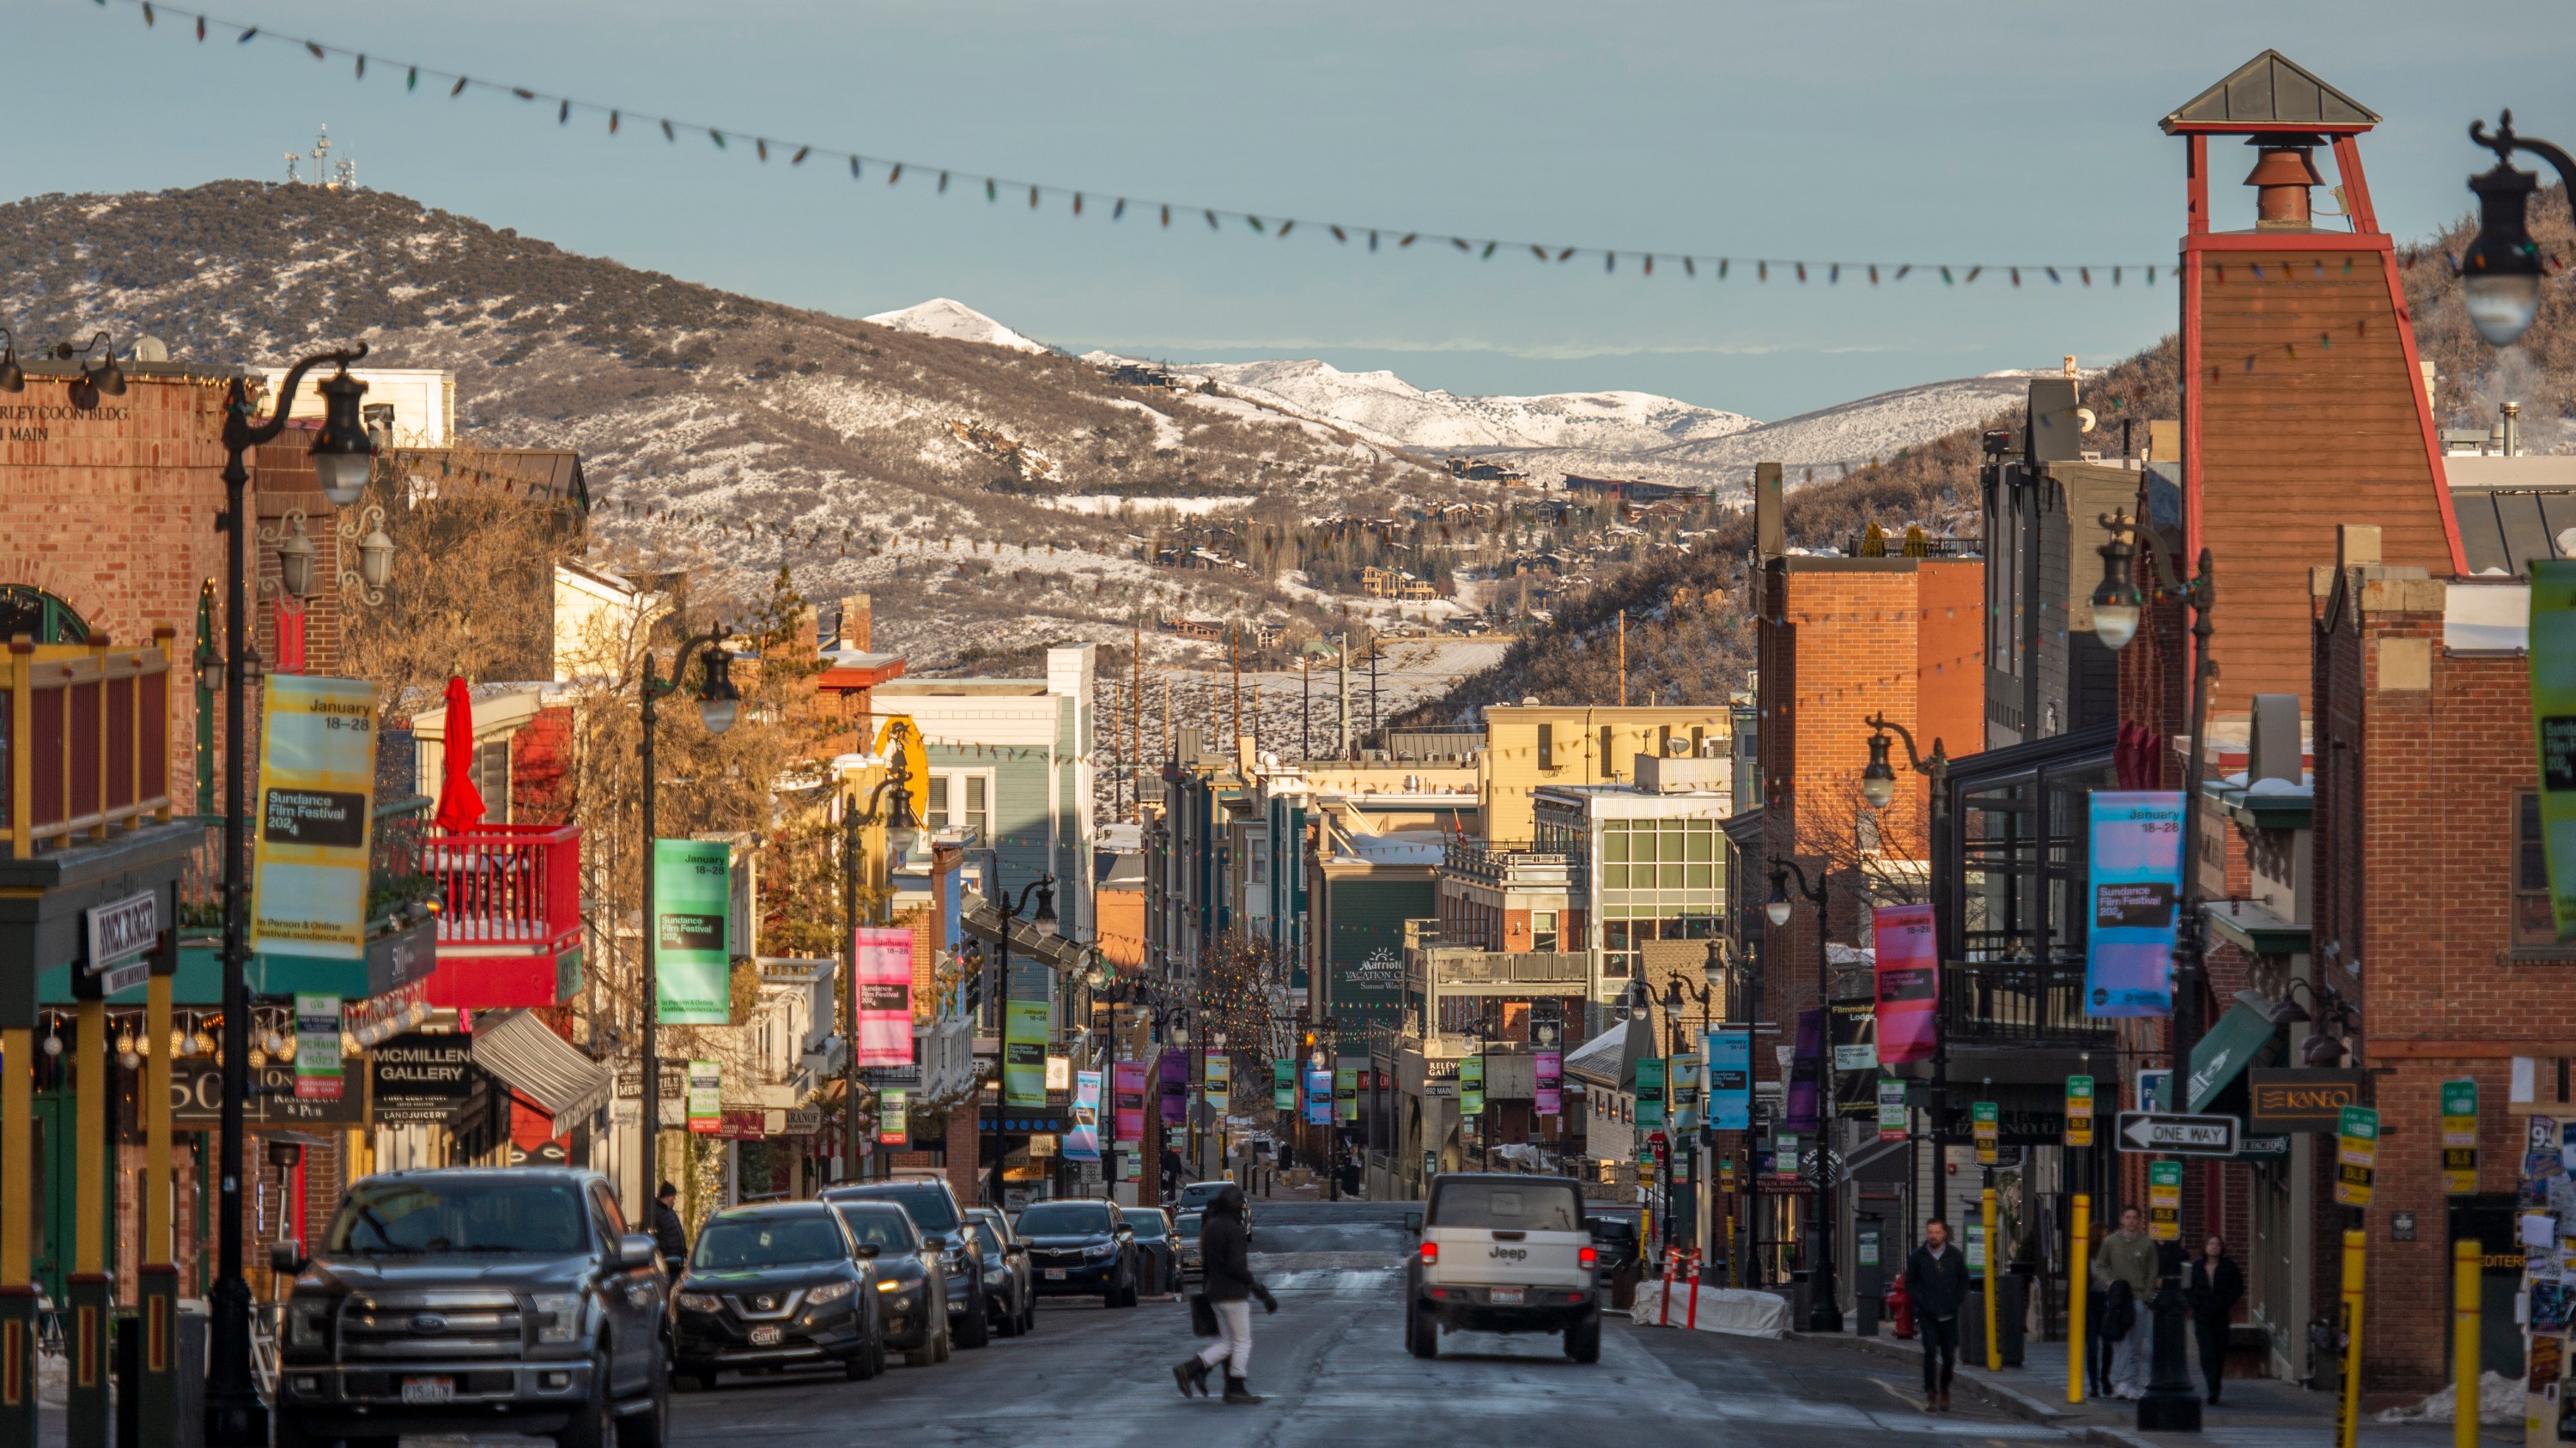
<path id="1" fill-rule="evenodd" d="M 1636 757 L 1728 757 L 1726 703 L 1592 709 L 1497 703 L 1484 711 L 1484 837 L 1494 850 L 1530 848 L 1530 791 L 1548 783 L 1633 783 Z"/>

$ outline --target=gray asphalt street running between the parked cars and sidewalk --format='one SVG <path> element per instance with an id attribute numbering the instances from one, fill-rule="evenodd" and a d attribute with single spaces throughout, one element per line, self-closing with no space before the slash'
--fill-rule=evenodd
<path id="1" fill-rule="evenodd" d="M 1437 1360 L 1401 1342 L 1404 1206 L 1275 1203 L 1255 1211 L 1255 1270 L 1280 1311 L 1255 1311 L 1260 1407 L 1182 1399 L 1170 1363 L 1198 1350 L 1175 1301 L 1105 1311 L 1038 1309 L 1038 1332 L 958 1350 L 871 1384 L 724 1378 L 672 1399 L 680 1443 L 799 1445 L 1139 1445 L 1427 1448 L 1569 1443 L 1749 1443 L 1819 1448 L 1834 1438 L 2066 1443 L 1971 1407 L 1927 1417 L 1904 1363 L 1816 1342 L 1641 1329 L 1613 1319 L 1602 1360 L 1566 1360 L 1556 1337 L 1450 1335 Z"/>

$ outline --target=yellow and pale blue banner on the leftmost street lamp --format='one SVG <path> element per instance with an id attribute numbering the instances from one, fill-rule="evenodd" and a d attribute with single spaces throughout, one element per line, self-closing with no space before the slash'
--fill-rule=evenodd
<path id="1" fill-rule="evenodd" d="M 250 948 L 363 961 L 376 685 L 363 678 L 268 675 L 260 724 Z M 332 1056 L 337 1051 L 332 1046 Z"/>

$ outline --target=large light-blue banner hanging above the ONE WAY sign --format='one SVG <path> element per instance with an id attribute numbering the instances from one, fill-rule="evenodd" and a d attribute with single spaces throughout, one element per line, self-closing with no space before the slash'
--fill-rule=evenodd
<path id="1" fill-rule="evenodd" d="M 2182 915 L 2182 791 L 2092 796 L 2092 933 L 2087 1015 L 2174 1013 L 2174 928 Z"/>

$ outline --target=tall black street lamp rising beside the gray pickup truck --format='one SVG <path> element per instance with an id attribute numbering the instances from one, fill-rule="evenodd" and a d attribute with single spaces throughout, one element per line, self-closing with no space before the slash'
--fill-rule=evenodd
<path id="1" fill-rule="evenodd" d="M 106 343 L 106 332 L 90 345 Z M 64 348 L 70 356 L 70 348 Z M 216 1123 L 216 1268 L 209 1296 L 209 1368 L 206 1368 L 206 1440 L 214 1448 L 250 1448 L 268 1443 L 268 1407 L 260 1404 L 260 1386 L 250 1373 L 250 1281 L 242 1275 L 242 1110 L 250 1103 L 250 830 L 245 788 L 250 781 L 250 729 L 245 685 L 250 683 L 250 569 L 247 541 L 255 528 L 247 508 L 250 448 L 270 443 L 286 430 L 286 412 L 296 402 L 304 374 L 366 356 L 366 343 L 345 350 L 309 356 L 286 368 L 278 386 L 278 410 L 265 423 L 250 417 L 250 379 L 234 376 L 224 389 L 224 513 L 216 528 L 224 533 L 227 608 L 224 608 L 224 660 L 237 667 L 224 670 L 224 1105 Z M 5 353 L 8 366 L 0 381 L 18 374 L 15 353 Z M 366 384 L 353 381 L 361 392 Z M 116 368 L 116 348 L 106 348 L 103 363 L 82 366 L 72 384 L 72 405 L 90 410 L 98 394 L 121 394 L 124 374 Z M 85 397 L 85 399 L 82 399 Z M 361 446 L 366 435 L 358 435 Z M 368 446 L 371 451 L 371 446 Z M 319 466 L 319 459 L 317 459 Z"/>

